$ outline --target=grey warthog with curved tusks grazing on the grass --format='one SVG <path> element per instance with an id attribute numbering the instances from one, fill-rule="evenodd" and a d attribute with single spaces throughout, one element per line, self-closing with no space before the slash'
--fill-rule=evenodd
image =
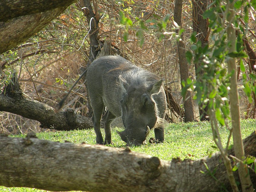
<path id="1" fill-rule="evenodd" d="M 162 80 L 156 75 L 121 56 L 105 56 L 88 67 L 86 81 L 97 143 L 111 143 L 110 123 L 121 116 L 125 129 L 117 133 L 127 145 L 141 145 L 153 128 L 156 142 L 164 141 L 166 97 Z M 103 141 L 100 120 L 104 106 L 108 110 L 103 116 Z"/>

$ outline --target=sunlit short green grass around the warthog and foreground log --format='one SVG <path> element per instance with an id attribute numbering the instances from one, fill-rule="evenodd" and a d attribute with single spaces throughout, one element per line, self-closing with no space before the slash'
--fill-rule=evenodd
<path id="1" fill-rule="evenodd" d="M 241 130 L 242 136 L 245 138 L 250 135 L 256 128 L 256 120 L 242 120 Z M 117 135 L 115 130 L 112 130 L 111 147 L 122 148 L 126 147 L 125 142 Z M 104 130 L 101 130 L 104 132 Z M 221 128 L 220 133 L 222 136 L 222 142 L 226 143 L 228 137 L 228 130 Z M 15 135 L 14 137 L 25 137 L 25 135 Z M 57 131 L 57 132 L 41 132 L 37 134 L 39 139 L 52 140 L 64 142 L 65 140 L 73 143 L 85 142 L 88 144 L 95 144 L 95 133 L 91 130 L 79 130 L 79 131 Z M 204 156 L 209 156 L 212 153 L 218 151 L 216 145 L 212 140 L 212 130 L 209 122 L 193 122 L 193 123 L 179 123 L 169 124 L 165 128 L 165 142 L 161 144 L 150 144 L 148 142 L 150 137 L 154 136 L 154 131 L 151 131 L 147 144 L 143 146 L 131 147 L 132 151 L 139 153 L 145 153 L 151 156 L 157 156 L 160 159 L 170 161 L 172 158 L 179 156 L 181 159 L 190 158 L 198 159 Z M 43 190 L 31 189 L 31 188 L 5 188 L 0 186 L 0 191 L 7 192 L 41 192 Z"/>

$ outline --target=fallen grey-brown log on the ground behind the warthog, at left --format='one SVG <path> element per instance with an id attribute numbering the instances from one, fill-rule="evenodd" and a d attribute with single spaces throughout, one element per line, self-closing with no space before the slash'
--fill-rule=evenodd
<path id="1" fill-rule="evenodd" d="M 0 94 L 0 111 L 39 121 L 42 128 L 69 131 L 93 127 L 90 117 L 76 115 L 71 108 L 66 112 L 55 113 L 54 108 L 37 100 L 10 98 L 4 94 Z"/>

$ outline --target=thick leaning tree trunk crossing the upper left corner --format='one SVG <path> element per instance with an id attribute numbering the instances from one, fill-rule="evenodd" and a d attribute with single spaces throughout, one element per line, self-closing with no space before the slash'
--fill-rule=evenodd
<path id="1" fill-rule="evenodd" d="M 23 8 L 23 6 L 26 5 L 26 2 L 27 1 L 22 0 L 1 1 L 0 54 L 33 36 L 74 1 L 54 1 L 48 6 L 43 6 L 48 0 L 29 1 L 28 4 L 31 5 Z M 33 2 L 37 2 L 39 5 L 36 3 L 34 4 Z M 16 7 L 16 5 L 20 5 L 21 7 Z M 42 9 L 40 8 L 41 5 Z M 50 5 L 53 5 L 53 7 Z M 35 9 L 34 6 L 36 6 Z M 8 9 L 6 7 L 8 7 Z M 10 11 L 10 9 L 12 11 Z M 44 12 L 41 12 L 41 10 L 44 10 Z"/>

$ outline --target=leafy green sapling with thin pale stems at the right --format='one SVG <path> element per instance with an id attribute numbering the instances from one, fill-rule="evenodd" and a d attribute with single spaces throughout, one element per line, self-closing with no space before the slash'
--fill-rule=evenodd
<path id="1" fill-rule="evenodd" d="M 234 186 L 233 191 L 238 191 L 233 171 L 238 168 L 241 186 L 243 190 L 250 188 L 253 191 L 250 177 L 245 177 L 247 172 L 246 166 L 242 166 L 246 162 L 244 157 L 244 148 L 240 127 L 240 109 L 238 98 L 238 86 L 236 77 L 236 60 L 240 61 L 240 69 L 243 74 L 244 92 L 248 100 L 252 102 L 252 91 L 255 91 L 255 79 L 253 83 L 246 82 L 245 66 L 243 58 L 247 57 L 244 52 L 243 38 L 245 38 L 246 29 L 237 22 L 240 15 L 235 14 L 236 9 L 244 8 L 244 21 L 248 22 L 248 7 L 252 4 L 245 1 L 222 1 L 213 2 L 214 6 L 209 7 L 204 12 L 204 19 L 209 20 L 209 27 L 212 29 L 212 42 L 210 46 L 201 46 L 201 42 L 196 42 L 196 34 L 191 36 L 191 50 L 187 51 L 186 56 L 188 62 L 198 64 L 198 69 L 203 71 L 203 75 L 197 76 L 197 81 L 193 82 L 188 79 L 182 82 L 184 89 L 183 95 L 188 89 L 195 91 L 194 99 L 197 103 L 208 106 L 208 115 L 211 120 L 213 140 L 218 146 L 220 153 L 224 159 L 224 164 L 229 175 L 229 181 Z M 255 4 L 254 4 L 255 5 Z M 221 15 L 221 16 L 220 16 Z M 238 29 L 239 28 L 240 31 Z M 199 73 L 196 73 L 199 74 Z M 254 74 L 251 76 L 255 76 Z M 228 121 L 232 119 L 232 125 L 229 126 Z M 219 125 L 219 124 L 220 125 Z M 226 127 L 230 133 L 225 148 L 220 137 L 220 127 Z M 238 167 L 232 168 L 231 157 L 227 154 L 231 137 L 235 140 L 235 154 Z M 246 163 L 244 163 L 246 164 Z"/>

